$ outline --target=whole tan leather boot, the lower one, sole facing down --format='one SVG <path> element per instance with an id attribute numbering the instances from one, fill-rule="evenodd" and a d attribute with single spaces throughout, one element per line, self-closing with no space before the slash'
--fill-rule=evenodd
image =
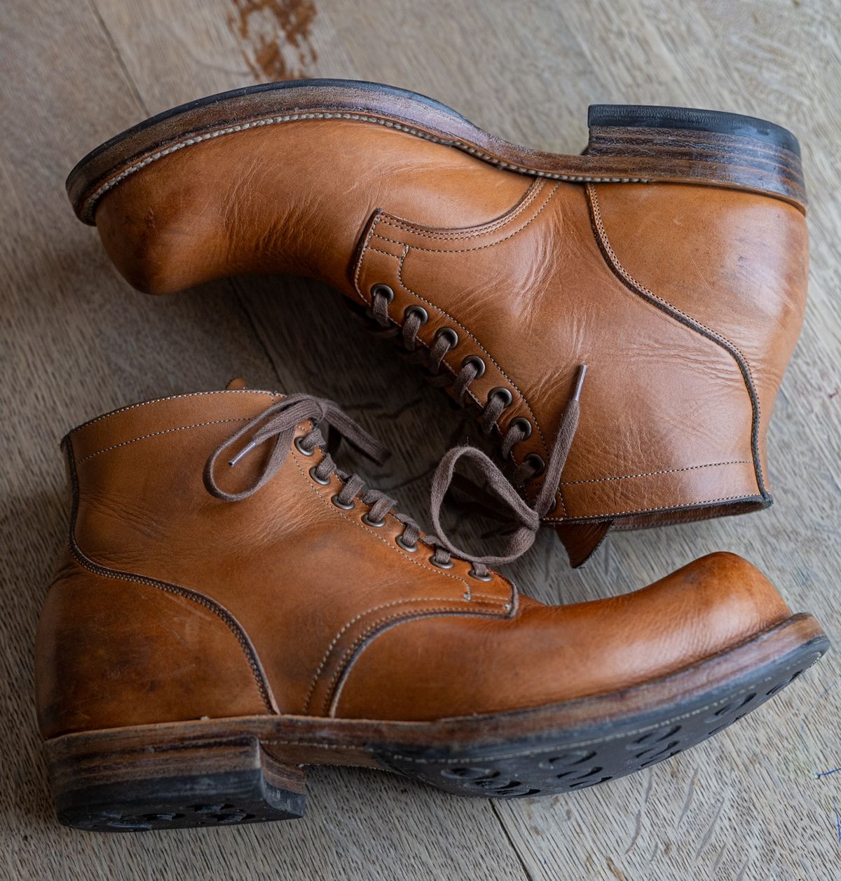
<path id="1" fill-rule="evenodd" d="M 36 648 L 64 823 L 297 817 L 311 764 L 464 796 L 584 788 L 709 737 L 827 648 L 732 554 L 598 602 L 519 596 L 336 470 L 325 422 L 382 454 L 333 403 L 250 390 L 64 439 L 70 543 Z"/>

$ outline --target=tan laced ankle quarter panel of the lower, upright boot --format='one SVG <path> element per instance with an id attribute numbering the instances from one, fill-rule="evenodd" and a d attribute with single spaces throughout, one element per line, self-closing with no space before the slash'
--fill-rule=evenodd
<path id="1" fill-rule="evenodd" d="M 100 566 L 173 582 L 229 611 L 254 644 L 282 712 L 317 714 L 348 653 L 380 626 L 431 610 L 510 614 L 513 587 L 501 576 L 476 581 L 461 561 L 439 569 L 429 562 L 431 549 L 402 551 L 395 542 L 402 524 L 393 518 L 374 528 L 362 519 L 364 506 L 336 507 L 336 478 L 322 486 L 310 476 L 319 450 L 306 456 L 293 447 L 276 478 L 248 500 L 231 505 L 211 497 L 205 460 L 276 399 L 219 394 L 216 418 L 207 418 L 206 398 L 188 396 L 72 433 L 75 537 Z M 178 402 L 183 411 L 175 418 Z M 306 430 L 300 426 L 300 434 Z M 255 451 L 241 473 L 220 479 L 232 489 L 247 485 L 268 454 Z M 290 653 L 293 641 L 299 648 Z"/>

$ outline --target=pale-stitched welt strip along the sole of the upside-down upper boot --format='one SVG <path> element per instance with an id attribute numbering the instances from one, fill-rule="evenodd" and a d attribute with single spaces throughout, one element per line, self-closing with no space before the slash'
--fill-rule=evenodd
<path id="1" fill-rule="evenodd" d="M 230 135 L 236 131 L 245 131 L 248 129 L 261 128 L 264 125 L 276 125 L 282 122 L 299 122 L 308 119 L 351 119 L 358 122 L 373 122 L 375 125 L 382 125 L 385 126 L 387 129 L 404 131 L 409 135 L 423 138 L 425 141 L 432 141 L 433 144 L 443 144 L 447 147 L 455 147 L 457 150 L 467 152 L 471 156 L 475 156 L 476 159 L 482 159 L 484 162 L 488 162 L 492 166 L 496 166 L 498 168 L 507 169 L 508 171 L 514 171 L 519 174 L 528 174 L 534 177 L 547 178 L 552 181 L 574 181 L 576 183 L 586 183 L 588 181 L 594 181 L 596 183 L 648 183 L 648 178 L 617 178 L 605 175 L 592 176 L 589 174 L 558 174 L 557 172 L 540 171 L 535 168 L 527 168 L 525 166 L 515 165 L 512 162 L 505 162 L 502 159 L 497 159 L 496 157 L 491 156 L 490 153 L 479 150 L 471 144 L 468 144 L 466 141 L 461 141 L 457 138 L 435 137 L 434 135 L 430 135 L 427 132 L 416 129 L 413 126 L 402 125 L 399 122 L 392 122 L 391 120 L 381 119 L 377 116 L 329 112 L 303 113 L 273 116 L 265 119 L 253 120 L 251 122 L 240 122 L 239 125 L 227 126 L 223 129 L 206 132 L 203 135 L 188 137 L 178 144 L 172 144 L 171 146 L 166 147 L 163 150 L 153 152 L 149 156 L 144 157 L 144 159 L 139 159 L 133 165 L 129 165 L 128 167 L 123 168 L 121 172 L 114 174 L 114 177 L 100 184 L 100 186 L 97 189 L 94 189 L 89 196 L 85 196 L 84 200 L 80 204 L 79 215 L 85 221 L 92 221 L 94 207 L 96 206 L 97 202 L 100 201 L 100 198 L 102 198 L 102 196 L 104 196 L 108 192 L 108 190 L 113 189 L 118 183 L 124 181 L 131 174 L 135 174 L 142 168 L 151 165 L 153 162 L 157 162 L 159 159 L 164 159 L 166 156 L 169 156 L 174 152 L 183 150 L 185 147 L 192 146 L 193 144 L 201 144 L 203 141 L 208 141 L 214 137 Z"/>

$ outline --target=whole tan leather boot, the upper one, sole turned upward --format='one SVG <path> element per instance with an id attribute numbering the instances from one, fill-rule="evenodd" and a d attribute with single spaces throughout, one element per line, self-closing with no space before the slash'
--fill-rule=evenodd
<path id="1" fill-rule="evenodd" d="M 591 107 L 582 156 L 507 144 L 384 85 L 258 85 L 177 107 L 70 174 L 132 285 L 321 278 L 481 414 L 578 565 L 607 531 L 771 503 L 765 432 L 808 241 L 796 139 L 675 107 Z"/>

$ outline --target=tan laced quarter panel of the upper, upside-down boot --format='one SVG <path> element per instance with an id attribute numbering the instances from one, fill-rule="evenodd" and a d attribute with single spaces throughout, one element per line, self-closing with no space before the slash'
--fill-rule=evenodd
<path id="1" fill-rule="evenodd" d="M 535 426 L 518 457 L 548 456 L 557 425 L 535 414 L 559 418 L 557 402 L 587 364 L 578 434 L 548 519 L 762 500 L 740 366 L 616 278 L 595 241 L 583 188 L 536 181 L 507 216 L 464 230 L 377 212 L 355 281 L 366 303 L 373 285 L 391 286 L 395 320 L 423 306 L 426 344 L 453 327 L 459 344 L 445 356 L 452 372 L 468 355 L 483 359 L 486 370 L 469 389 L 476 403 L 503 387 L 514 403 L 500 430 L 513 418 Z"/>

